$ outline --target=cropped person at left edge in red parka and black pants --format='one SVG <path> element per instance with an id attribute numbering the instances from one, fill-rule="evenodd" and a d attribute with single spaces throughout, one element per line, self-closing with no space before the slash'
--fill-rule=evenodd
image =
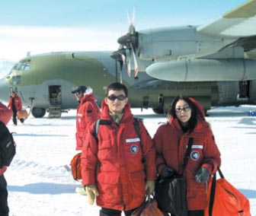
<path id="1" fill-rule="evenodd" d="M 0 121 L 7 125 L 11 119 L 11 115 L 11 110 L 9 110 L 7 106 L 0 102 Z M 3 166 L 0 160 L 0 215 L 3 216 L 8 216 L 9 214 L 7 183 L 4 176 L 6 169 L 6 166 Z"/>

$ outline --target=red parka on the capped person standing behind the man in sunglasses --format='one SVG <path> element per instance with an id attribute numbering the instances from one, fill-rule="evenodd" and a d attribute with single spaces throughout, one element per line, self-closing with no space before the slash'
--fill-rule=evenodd
<path id="1" fill-rule="evenodd" d="M 94 94 L 85 94 L 77 108 L 76 113 L 76 148 L 82 150 L 85 136 L 90 128 L 91 123 L 100 118 L 100 109 L 95 103 Z"/>

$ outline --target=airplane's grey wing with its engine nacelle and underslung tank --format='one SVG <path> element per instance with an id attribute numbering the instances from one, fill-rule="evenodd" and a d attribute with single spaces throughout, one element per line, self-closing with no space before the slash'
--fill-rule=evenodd
<path id="1" fill-rule="evenodd" d="M 250 81 L 256 79 L 255 15 L 256 0 L 250 0 L 202 26 L 136 31 L 131 23 L 129 32 L 118 43 L 136 56 L 135 62 L 151 60 L 146 73 L 153 78 L 248 81 L 251 91 Z"/>

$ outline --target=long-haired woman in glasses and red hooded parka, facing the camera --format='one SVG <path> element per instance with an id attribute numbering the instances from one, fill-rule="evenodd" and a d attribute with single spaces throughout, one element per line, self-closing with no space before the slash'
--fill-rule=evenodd
<path id="1" fill-rule="evenodd" d="M 203 216 L 207 181 L 220 167 L 221 159 L 213 132 L 204 117 L 203 107 L 191 97 L 176 97 L 168 111 L 168 123 L 159 126 L 153 141 L 156 166 L 163 177 L 183 173 L 187 183 L 189 216 Z M 190 157 L 182 169 L 189 138 L 193 139 Z"/>

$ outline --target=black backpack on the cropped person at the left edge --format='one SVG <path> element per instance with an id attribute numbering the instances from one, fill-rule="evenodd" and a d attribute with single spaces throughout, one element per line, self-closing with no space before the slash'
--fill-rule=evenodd
<path id="1" fill-rule="evenodd" d="M 4 122 L 0 121 L 0 163 L 9 166 L 16 154 L 16 144 L 12 133 L 9 132 Z"/>

